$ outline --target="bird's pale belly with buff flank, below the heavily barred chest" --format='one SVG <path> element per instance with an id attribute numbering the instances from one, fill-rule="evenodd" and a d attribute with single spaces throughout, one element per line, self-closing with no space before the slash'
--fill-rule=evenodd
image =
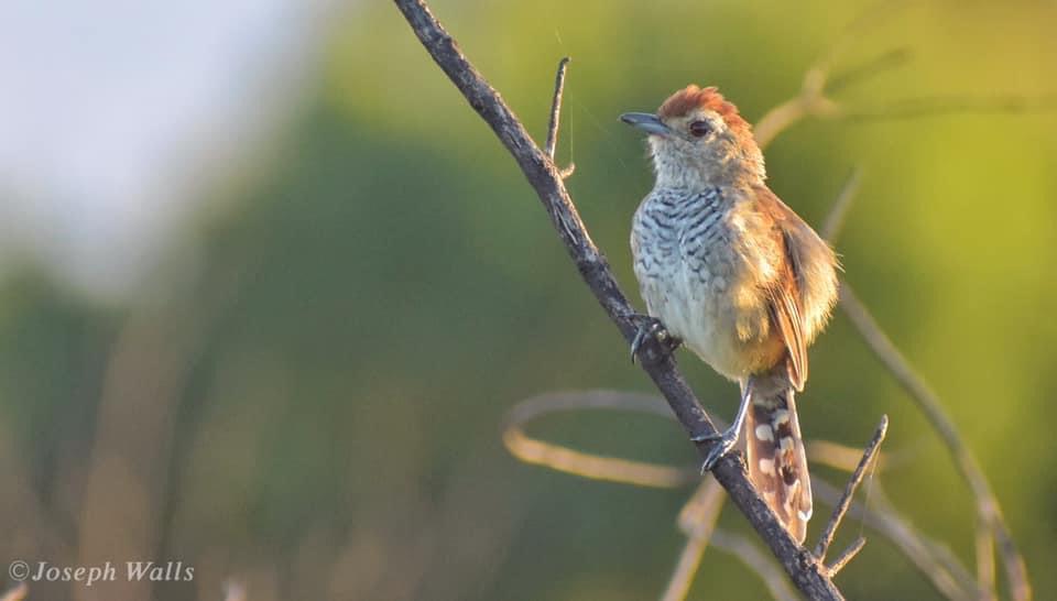
<path id="1" fill-rule="evenodd" d="M 672 258 L 636 275 L 650 315 L 720 374 L 740 380 L 782 353 L 766 298 L 737 262 Z"/>

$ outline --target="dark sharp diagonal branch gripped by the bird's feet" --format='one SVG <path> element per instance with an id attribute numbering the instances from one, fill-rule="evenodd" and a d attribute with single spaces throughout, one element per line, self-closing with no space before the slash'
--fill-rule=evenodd
<path id="1" fill-rule="evenodd" d="M 533 142 L 521 121 L 514 117 L 499 94 L 467 61 L 451 36 L 440 26 L 423 0 L 395 0 L 415 35 L 437 65 L 466 97 L 470 106 L 492 128 L 522 173 L 535 189 L 544 208 L 576 264 L 610 319 L 631 342 L 636 326 L 635 315 L 626 296 L 618 286 L 601 252 L 591 241 L 554 162 Z M 716 434 L 705 409 L 678 373 L 675 361 L 666 357 L 654 340 L 649 340 L 642 353 L 642 367 L 664 394 L 679 423 L 694 438 Z M 710 445 L 701 442 L 698 451 L 704 457 Z M 843 595 L 824 572 L 811 554 L 796 544 L 764 500 L 749 481 L 740 456 L 732 454 L 719 461 L 712 471 L 727 489 L 731 500 L 756 529 L 771 551 L 778 558 L 794 584 L 809 599 L 836 600 Z"/>

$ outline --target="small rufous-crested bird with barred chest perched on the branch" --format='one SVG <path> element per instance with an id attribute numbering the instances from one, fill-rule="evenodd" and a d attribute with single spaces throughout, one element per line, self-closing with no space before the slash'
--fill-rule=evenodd
<path id="1" fill-rule="evenodd" d="M 631 227 L 647 309 L 632 360 L 654 336 L 739 383 L 733 424 L 695 439 L 713 444 L 701 472 L 744 431 L 751 481 L 803 543 L 811 487 L 794 397 L 837 300 L 837 255 L 767 187 L 752 127 L 717 88 L 690 85 L 620 119 L 647 134 L 655 174 Z"/>

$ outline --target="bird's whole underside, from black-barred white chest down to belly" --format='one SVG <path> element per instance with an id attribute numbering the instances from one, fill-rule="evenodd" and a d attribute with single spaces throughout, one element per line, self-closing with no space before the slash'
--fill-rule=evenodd
<path id="1" fill-rule="evenodd" d="M 753 216 L 718 187 L 654 189 L 632 222 L 634 271 L 650 315 L 716 371 L 748 374 L 747 346 L 767 335 Z"/>

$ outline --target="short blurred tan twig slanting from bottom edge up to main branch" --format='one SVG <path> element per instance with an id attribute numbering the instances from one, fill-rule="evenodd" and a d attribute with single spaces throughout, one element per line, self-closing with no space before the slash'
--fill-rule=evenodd
<path id="1" fill-rule="evenodd" d="M 679 512 L 679 529 L 686 534 L 686 546 L 679 562 L 664 589 L 662 601 L 683 601 L 690 592 L 690 584 L 701 565 L 701 556 L 716 529 L 716 521 L 723 509 L 723 488 L 713 478 L 706 478 Z"/>

